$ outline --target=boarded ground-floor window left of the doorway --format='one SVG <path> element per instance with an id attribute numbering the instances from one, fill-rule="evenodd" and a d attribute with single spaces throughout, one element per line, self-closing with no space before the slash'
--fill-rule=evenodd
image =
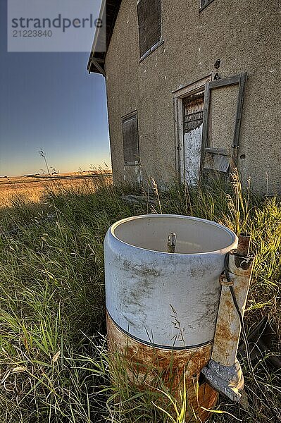
<path id="1" fill-rule="evenodd" d="M 137 114 L 123 118 L 123 152 L 125 166 L 139 164 L 139 133 L 137 130 Z"/>

